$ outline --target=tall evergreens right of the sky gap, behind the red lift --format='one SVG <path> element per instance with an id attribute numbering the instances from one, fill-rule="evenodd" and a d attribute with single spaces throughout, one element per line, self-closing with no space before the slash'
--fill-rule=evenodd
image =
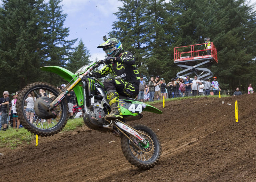
<path id="1" fill-rule="evenodd" d="M 166 81 L 181 69 L 174 47 L 204 43 L 210 37 L 218 52 L 209 69 L 222 89 L 256 87 L 255 6 L 245 0 L 120 0 L 118 20 L 109 33 L 136 55 L 140 73 Z M 194 76 L 194 75 L 191 75 Z"/>

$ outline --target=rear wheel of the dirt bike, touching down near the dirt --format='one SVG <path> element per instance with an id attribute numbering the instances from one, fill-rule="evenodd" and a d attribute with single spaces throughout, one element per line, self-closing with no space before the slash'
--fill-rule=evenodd
<path id="1" fill-rule="evenodd" d="M 162 147 L 156 133 L 149 127 L 143 124 L 135 124 L 131 126 L 135 130 L 143 133 L 140 135 L 148 141 L 148 145 L 144 146 L 137 138 L 132 135 L 121 137 L 121 147 L 126 159 L 139 169 L 153 168 L 159 161 Z M 131 140 L 132 141 L 131 141 Z M 141 150 L 135 146 L 135 143 L 141 145 Z M 138 145 L 137 145 L 138 146 Z"/>

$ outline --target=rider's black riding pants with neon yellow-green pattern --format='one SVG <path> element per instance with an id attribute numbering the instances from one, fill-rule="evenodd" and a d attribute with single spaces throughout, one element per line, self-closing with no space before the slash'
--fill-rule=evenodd
<path id="1" fill-rule="evenodd" d="M 135 98 L 139 94 L 139 86 L 122 79 L 107 78 L 103 85 L 106 91 L 116 90 L 120 95 Z"/>

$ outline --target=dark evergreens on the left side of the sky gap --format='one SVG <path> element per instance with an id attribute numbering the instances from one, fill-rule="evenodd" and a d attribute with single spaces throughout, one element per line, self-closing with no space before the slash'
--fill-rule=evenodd
<path id="1" fill-rule="evenodd" d="M 40 71 L 56 65 L 76 71 L 89 63 L 90 53 L 80 40 L 68 40 L 67 14 L 61 0 L 3 0 L 0 7 L 0 88 L 17 91 L 34 81 L 63 83 L 54 73 Z"/>

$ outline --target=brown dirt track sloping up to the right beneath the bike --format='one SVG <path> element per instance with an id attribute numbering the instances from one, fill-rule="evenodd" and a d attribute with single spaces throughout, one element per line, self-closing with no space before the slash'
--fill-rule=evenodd
<path id="1" fill-rule="evenodd" d="M 84 126 L 39 137 L 37 147 L 0 149 L 0 181 L 256 181 L 255 101 L 256 94 L 171 101 L 155 105 L 162 115 L 128 122 L 160 138 L 162 156 L 150 170 L 126 161 L 119 138 Z"/>

